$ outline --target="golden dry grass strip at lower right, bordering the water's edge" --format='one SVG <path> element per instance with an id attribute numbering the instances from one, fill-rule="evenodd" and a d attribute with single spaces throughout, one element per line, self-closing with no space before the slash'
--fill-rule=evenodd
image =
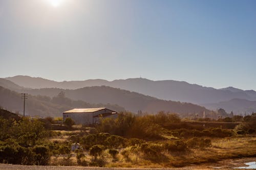
<path id="1" fill-rule="evenodd" d="M 126 149 L 129 150 L 129 149 Z M 152 162 L 143 159 L 141 153 L 130 152 L 127 156 L 118 154 L 118 162 L 109 162 L 106 167 L 181 167 L 191 164 L 201 164 L 207 162 L 217 162 L 223 159 L 256 156 L 256 137 L 225 138 L 212 141 L 212 147 L 200 149 L 190 149 L 186 152 L 169 153 L 163 151 L 167 158 Z"/>

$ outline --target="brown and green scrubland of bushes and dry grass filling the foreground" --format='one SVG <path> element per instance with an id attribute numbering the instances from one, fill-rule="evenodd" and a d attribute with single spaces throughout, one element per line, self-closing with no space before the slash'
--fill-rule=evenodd
<path id="1" fill-rule="evenodd" d="M 66 130 L 61 131 L 50 130 L 51 118 L 2 118 L 0 126 L 6 131 L 1 131 L 0 160 L 37 165 L 182 167 L 255 157 L 255 117 L 253 114 L 234 129 L 223 129 L 181 122 L 176 114 L 137 117 L 123 113 L 117 119 L 102 119 L 95 127 L 64 126 Z M 71 151 L 72 143 L 80 143 L 80 147 Z M 23 155 L 17 160 L 6 157 L 10 151 Z"/>

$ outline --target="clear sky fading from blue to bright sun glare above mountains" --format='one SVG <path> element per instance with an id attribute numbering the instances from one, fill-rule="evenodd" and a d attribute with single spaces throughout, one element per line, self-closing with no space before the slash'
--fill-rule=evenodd
<path id="1" fill-rule="evenodd" d="M 0 0 L 0 77 L 256 90 L 256 1 Z"/>

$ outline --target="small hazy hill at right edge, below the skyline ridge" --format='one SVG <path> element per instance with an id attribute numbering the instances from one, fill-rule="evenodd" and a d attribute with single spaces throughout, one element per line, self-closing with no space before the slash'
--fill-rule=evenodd
<path id="1" fill-rule="evenodd" d="M 204 104 L 203 106 L 212 110 L 223 108 L 228 113 L 233 111 L 234 114 L 244 114 L 245 112 L 251 114 L 252 112 L 256 112 L 256 101 L 245 99 L 232 99 L 225 102 Z"/>

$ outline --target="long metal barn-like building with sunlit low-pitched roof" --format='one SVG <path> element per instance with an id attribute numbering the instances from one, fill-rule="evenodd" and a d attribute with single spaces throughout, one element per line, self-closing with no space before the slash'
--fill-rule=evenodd
<path id="1" fill-rule="evenodd" d="M 75 124 L 91 125 L 99 123 L 100 117 L 117 117 L 117 112 L 107 108 L 86 108 L 86 109 L 72 109 L 63 112 L 63 121 L 66 118 L 72 118 Z"/>

